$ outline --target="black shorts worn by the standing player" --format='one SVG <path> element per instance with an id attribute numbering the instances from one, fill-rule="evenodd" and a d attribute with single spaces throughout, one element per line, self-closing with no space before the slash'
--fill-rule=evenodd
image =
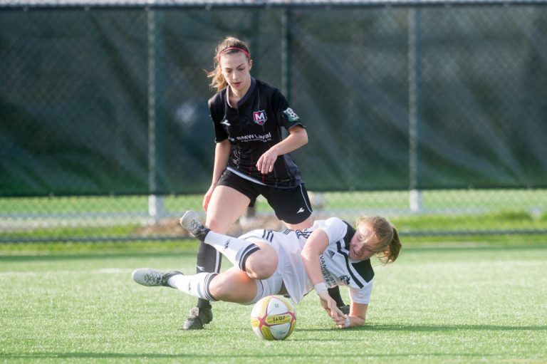
<path id="1" fill-rule="evenodd" d="M 308 191 L 303 183 L 293 188 L 269 187 L 246 180 L 234 172 L 225 170 L 217 185 L 231 187 L 249 197 L 251 199 L 250 207 L 254 206 L 256 197 L 261 194 L 276 213 L 276 217 L 287 224 L 300 224 L 308 219 L 312 212 Z"/>

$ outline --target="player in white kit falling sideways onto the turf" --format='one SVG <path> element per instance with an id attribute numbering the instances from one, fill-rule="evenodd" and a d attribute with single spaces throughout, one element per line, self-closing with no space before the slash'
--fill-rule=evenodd
<path id="1" fill-rule="evenodd" d="M 355 229 L 337 217 L 317 220 L 303 230 L 257 229 L 234 238 L 202 225 L 196 212 L 180 219 L 190 234 L 224 254 L 233 267 L 223 273 L 184 275 L 179 271 L 137 269 L 132 278 L 143 286 L 168 286 L 209 301 L 253 304 L 270 295 L 288 295 L 298 303 L 315 288 L 321 306 L 339 328 L 365 323 L 377 256 L 383 264 L 397 259 L 397 229 L 383 217 L 360 217 Z M 328 288 L 348 286 L 350 313 L 345 315 Z"/>

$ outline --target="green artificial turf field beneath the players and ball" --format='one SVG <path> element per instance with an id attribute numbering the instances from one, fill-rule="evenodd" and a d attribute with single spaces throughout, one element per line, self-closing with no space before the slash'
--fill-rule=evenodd
<path id="1" fill-rule="evenodd" d="M 405 244 L 375 268 L 365 326 L 334 328 L 312 293 L 278 342 L 256 338 L 251 306 L 232 303 L 182 331 L 194 298 L 132 282 L 138 267 L 194 271 L 194 241 L 0 245 L 0 361 L 547 363 L 547 244 L 469 245 Z"/>

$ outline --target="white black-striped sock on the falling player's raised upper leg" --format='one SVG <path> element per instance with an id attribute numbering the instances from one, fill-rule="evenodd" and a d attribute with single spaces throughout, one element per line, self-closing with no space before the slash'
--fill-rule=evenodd
<path id="1" fill-rule="evenodd" d="M 216 232 L 209 232 L 209 234 L 205 236 L 204 242 L 220 251 L 229 261 L 231 261 L 231 264 L 238 266 L 242 271 L 245 271 L 245 262 L 247 258 L 249 258 L 249 255 L 260 249 L 258 246 L 251 243 L 251 241 L 237 239 Z"/>

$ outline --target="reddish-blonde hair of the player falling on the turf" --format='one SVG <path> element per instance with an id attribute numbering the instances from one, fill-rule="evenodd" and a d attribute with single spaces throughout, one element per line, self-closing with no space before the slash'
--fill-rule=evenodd
<path id="1" fill-rule="evenodd" d="M 376 239 L 368 241 L 365 239 L 363 243 L 368 245 L 368 248 L 373 251 L 378 260 L 382 264 L 392 263 L 399 256 L 399 251 L 402 248 L 397 229 L 384 217 L 360 217 L 357 219 L 356 229 L 359 229 L 363 224 L 368 225 L 373 229 Z"/>

